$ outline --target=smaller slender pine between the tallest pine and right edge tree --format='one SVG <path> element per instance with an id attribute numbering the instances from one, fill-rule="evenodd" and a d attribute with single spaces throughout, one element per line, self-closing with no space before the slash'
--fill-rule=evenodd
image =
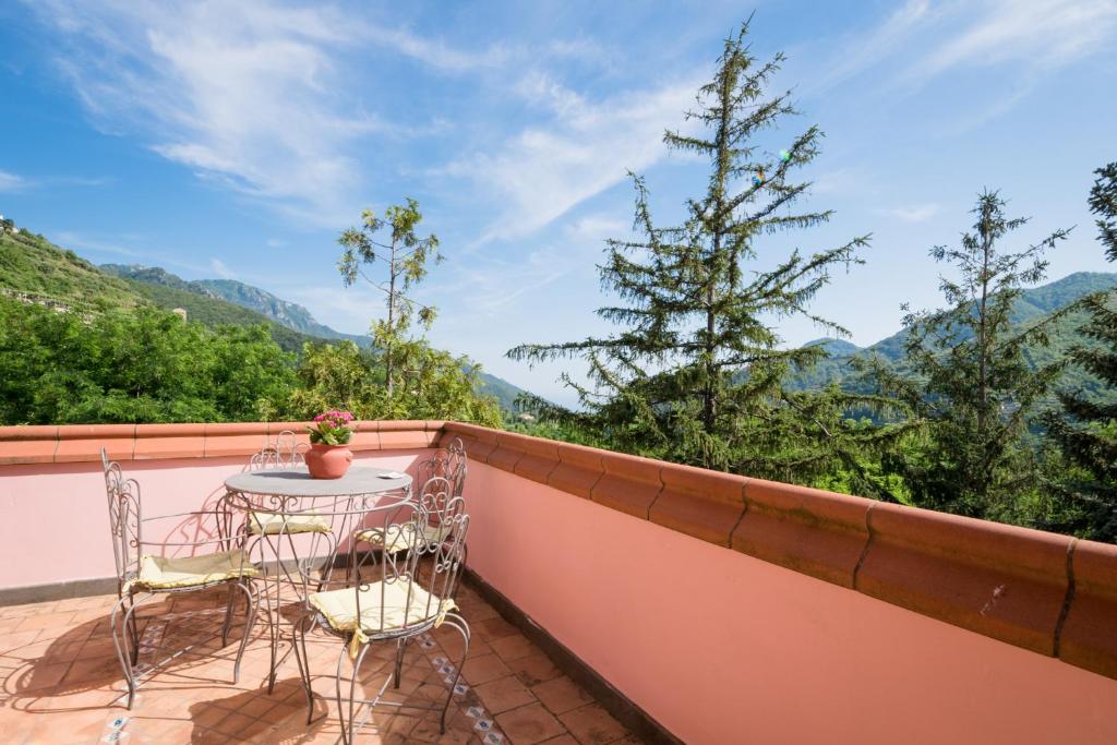
<path id="1" fill-rule="evenodd" d="M 1020 496 L 1039 483 L 1025 441 L 1030 418 L 1062 365 L 1032 369 L 1024 355 L 1028 345 L 1048 343 L 1047 329 L 1061 314 L 1021 329 L 1012 307 L 1022 285 L 1043 279 L 1043 255 L 1068 231 L 1001 252 L 1000 241 L 1028 221 L 1006 219 L 1004 206 L 996 192 L 981 193 L 973 231 L 963 233 L 961 247 L 932 249 L 957 273 L 957 279 L 941 278 L 947 307 L 907 315 L 904 372 L 882 364 L 873 372 L 881 393 L 895 397 L 920 432 L 885 459 L 885 471 L 903 477 L 910 500 L 1016 522 Z"/>

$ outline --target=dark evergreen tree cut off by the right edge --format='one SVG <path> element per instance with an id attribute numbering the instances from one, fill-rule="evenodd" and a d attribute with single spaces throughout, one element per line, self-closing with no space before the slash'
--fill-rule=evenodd
<path id="1" fill-rule="evenodd" d="M 1098 240 L 1117 260 L 1117 162 L 1095 171 L 1090 211 L 1098 216 Z M 1048 432 L 1071 466 L 1063 493 L 1073 516 L 1059 527 L 1097 541 L 1117 541 L 1117 292 L 1082 302 L 1089 322 L 1079 329 L 1090 346 L 1070 352 L 1073 364 L 1100 382 L 1100 391 L 1062 391 L 1062 416 L 1048 418 Z"/>

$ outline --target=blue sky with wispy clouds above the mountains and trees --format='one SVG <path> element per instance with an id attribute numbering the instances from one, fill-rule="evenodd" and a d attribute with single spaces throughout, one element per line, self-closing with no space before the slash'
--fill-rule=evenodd
<path id="1" fill-rule="evenodd" d="M 1117 159 L 1117 0 L 910 2 L 66 2 L 0 4 L 0 213 L 96 261 L 231 277 L 361 333 L 375 290 L 342 287 L 337 233 L 418 199 L 447 261 L 417 294 L 431 341 L 569 401 L 565 365 L 504 359 L 605 327 L 595 264 L 646 175 L 663 222 L 705 185 L 668 153 L 720 40 L 755 8 L 754 52 L 818 124 L 791 247 L 872 233 L 815 309 L 858 344 L 901 303 L 938 303 L 927 257 L 997 188 L 1018 240 L 1077 225 L 1051 276 L 1109 270 L 1086 195 Z M 782 322 L 789 344 L 820 335 Z M 575 371 L 577 366 L 573 367 Z"/>

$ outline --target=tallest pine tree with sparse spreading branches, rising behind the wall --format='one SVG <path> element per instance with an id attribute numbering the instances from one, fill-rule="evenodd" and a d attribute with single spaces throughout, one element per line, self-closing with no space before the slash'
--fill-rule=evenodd
<path id="1" fill-rule="evenodd" d="M 708 184 L 687 201 L 681 225 L 652 219 L 642 178 L 636 187 L 637 240 L 610 240 L 601 281 L 621 303 L 598 314 L 620 326 L 613 335 L 508 352 L 538 362 L 584 359 L 590 384 L 574 389 L 581 411 L 532 405 L 610 447 L 720 470 L 810 483 L 834 468 L 860 474 L 862 446 L 880 437 L 846 419 L 846 397 L 831 389 L 793 393 L 783 381 L 824 351 L 784 348 L 771 325 L 805 317 L 838 335 L 809 304 L 834 266 L 859 264 L 868 237 L 804 255 L 774 268 L 761 259 L 764 238 L 827 222 L 831 212 L 794 211 L 809 182 L 793 173 L 819 152 L 822 133 L 808 127 L 777 155 L 760 140 L 795 114 L 790 92 L 767 95 L 784 57 L 757 65 L 748 22 L 725 41 L 712 83 L 686 114 L 694 131 L 668 131 L 668 147 L 709 163 Z M 837 464 L 837 466 L 836 466 Z M 868 487 L 866 487 L 868 488 Z"/>

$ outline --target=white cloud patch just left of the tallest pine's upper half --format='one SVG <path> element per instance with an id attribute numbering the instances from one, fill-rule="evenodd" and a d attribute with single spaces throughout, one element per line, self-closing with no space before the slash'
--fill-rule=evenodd
<path id="1" fill-rule="evenodd" d="M 698 85 L 691 78 L 591 102 L 546 75 L 526 77 L 517 92 L 548 111 L 550 122 L 522 130 L 496 152 L 475 153 L 447 169 L 507 206 L 481 241 L 536 230 L 621 181 L 628 170 L 659 161 L 667 152 L 663 130 L 682 121 Z"/>

